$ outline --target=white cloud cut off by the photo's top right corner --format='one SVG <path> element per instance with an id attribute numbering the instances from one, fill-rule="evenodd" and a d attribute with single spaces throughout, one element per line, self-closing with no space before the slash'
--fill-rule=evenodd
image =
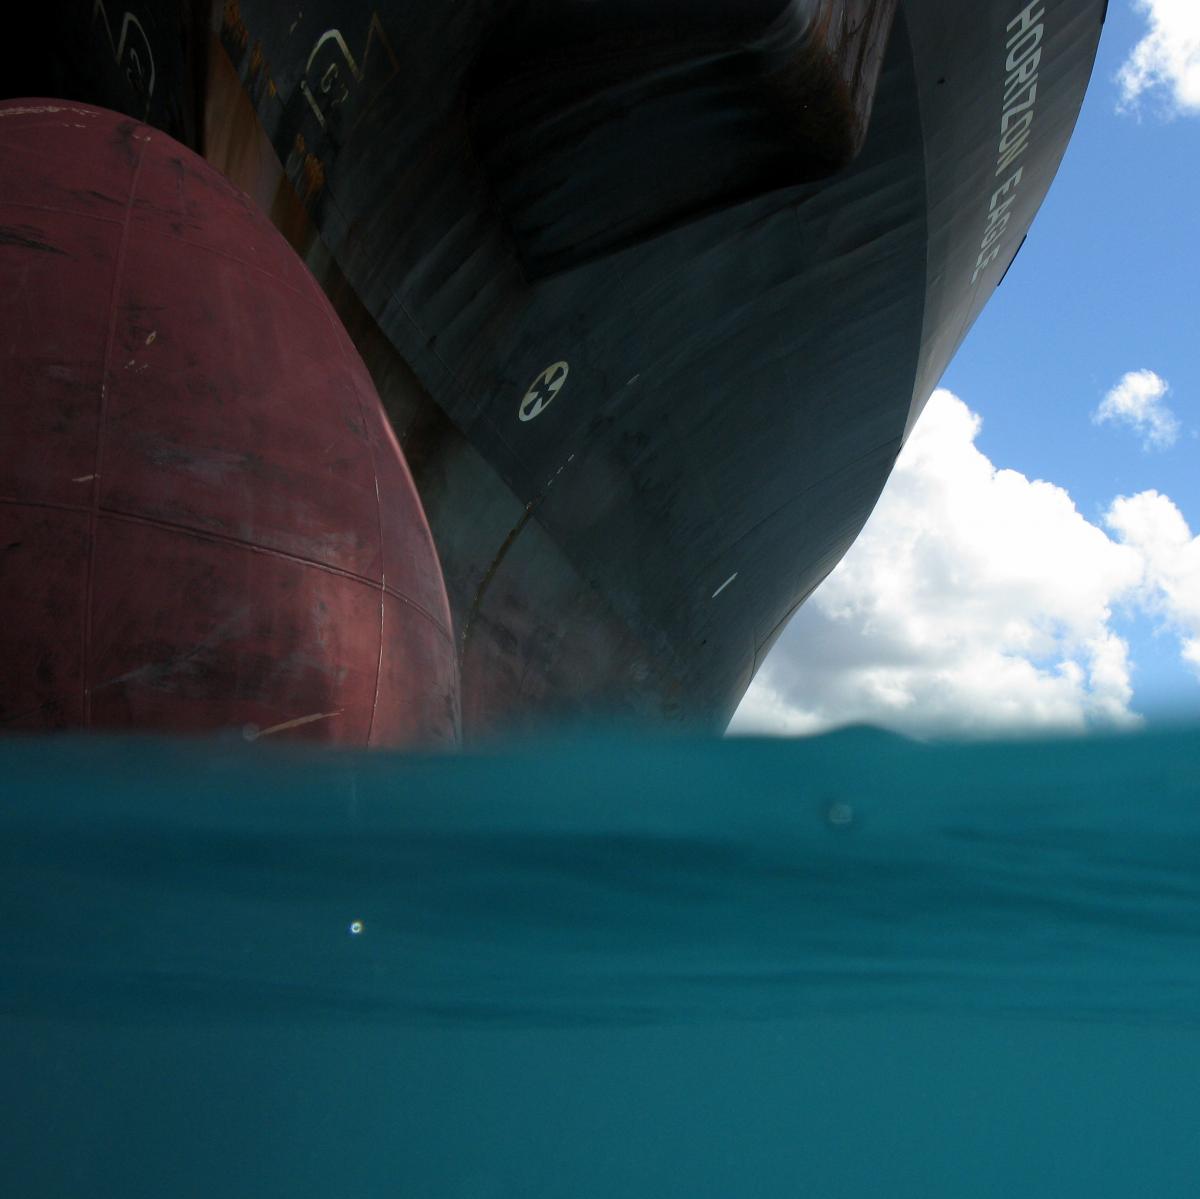
<path id="1" fill-rule="evenodd" d="M 1117 72 L 1122 110 L 1136 110 L 1146 95 L 1164 101 L 1168 115 L 1200 114 L 1200 4 L 1196 0 L 1134 0 L 1150 29 Z"/>

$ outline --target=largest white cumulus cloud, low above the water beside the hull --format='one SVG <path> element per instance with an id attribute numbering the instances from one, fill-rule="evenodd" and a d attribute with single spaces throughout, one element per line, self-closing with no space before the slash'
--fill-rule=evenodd
<path id="1" fill-rule="evenodd" d="M 1117 500 L 1110 536 L 1061 487 L 992 466 L 979 427 L 956 396 L 934 394 L 866 528 L 780 637 L 732 732 L 1132 726 L 1122 604 L 1158 605 L 1200 669 L 1200 542 L 1170 500 Z M 1180 565 L 1184 545 L 1193 557 Z"/>

